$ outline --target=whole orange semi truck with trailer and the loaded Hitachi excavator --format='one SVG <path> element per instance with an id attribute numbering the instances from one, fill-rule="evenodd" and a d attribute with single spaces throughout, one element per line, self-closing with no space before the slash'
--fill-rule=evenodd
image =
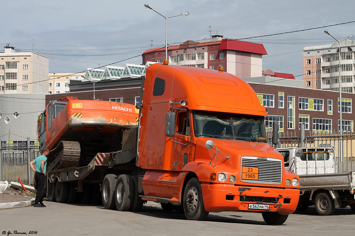
<path id="1" fill-rule="evenodd" d="M 299 177 L 267 143 L 266 116 L 253 89 L 223 68 L 166 61 L 148 67 L 136 109 L 52 101 L 38 124 L 40 149 L 51 150 L 47 197 L 93 203 L 101 189 L 107 209 L 154 201 L 190 220 L 244 211 L 283 224 L 297 207 Z"/>

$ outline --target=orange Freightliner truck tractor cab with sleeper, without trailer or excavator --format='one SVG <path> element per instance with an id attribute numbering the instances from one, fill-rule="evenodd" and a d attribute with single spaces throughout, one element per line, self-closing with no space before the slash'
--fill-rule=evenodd
<path id="1" fill-rule="evenodd" d="M 143 87 L 136 160 L 146 170 L 142 200 L 182 205 L 191 220 L 244 211 L 283 224 L 295 211 L 299 177 L 267 143 L 266 109 L 245 81 L 156 63 Z"/>

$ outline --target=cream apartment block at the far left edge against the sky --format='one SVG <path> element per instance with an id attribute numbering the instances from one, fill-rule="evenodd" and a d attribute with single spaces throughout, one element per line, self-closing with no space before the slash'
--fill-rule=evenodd
<path id="1" fill-rule="evenodd" d="M 0 52 L 0 94 L 48 93 L 48 57 L 16 52 L 9 44 Z"/>

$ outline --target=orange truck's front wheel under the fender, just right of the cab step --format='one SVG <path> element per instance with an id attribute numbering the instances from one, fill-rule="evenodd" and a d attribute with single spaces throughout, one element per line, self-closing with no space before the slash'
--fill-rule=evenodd
<path id="1" fill-rule="evenodd" d="M 207 218 L 209 212 L 204 209 L 201 182 L 196 177 L 187 182 L 182 204 L 188 220 L 205 220 Z"/>

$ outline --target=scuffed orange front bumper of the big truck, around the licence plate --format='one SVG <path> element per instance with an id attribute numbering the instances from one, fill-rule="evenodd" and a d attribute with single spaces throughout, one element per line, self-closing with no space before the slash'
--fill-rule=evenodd
<path id="1" fill-rule="evenodd" d="M 204 208 L 208 212 L 264 212 L 248 209 L 249 203 L 256 203 L 268 204 L 270 205 L 268 211 L 288 215 L 295 211 L 300 197 L 300 190 L 291 188 L 261 188 L 233 184 L 201 184 L 201 188 Z M 263 198 L 264 201 L 260 200 Z M 269 199 L 274 198 L 277 198 L 276 203 L 267 202 Z M 250 199 L 258 200 L 249 201 Z"/>

